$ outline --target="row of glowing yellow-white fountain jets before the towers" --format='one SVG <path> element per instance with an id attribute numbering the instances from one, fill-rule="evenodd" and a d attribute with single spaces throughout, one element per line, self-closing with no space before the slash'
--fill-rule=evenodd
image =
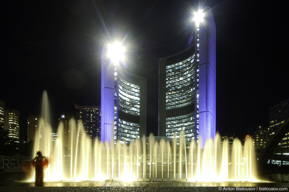
<path id="1" fill-rule="evenodd" d="M 47 94 L 43 94 L 42 118 L 36 131 L 33 154 L 49 160 L 45 181 L 256 181 L 253 141 L 228 140 L 220 145 L 216 135 L 204 149 L 192 142 L 167 137 L 142 137 L 127 144 L 90 142 L 83 125 L 70 121 L 69 150 L 64 148 L 64 127 L 52 143 Z"/>

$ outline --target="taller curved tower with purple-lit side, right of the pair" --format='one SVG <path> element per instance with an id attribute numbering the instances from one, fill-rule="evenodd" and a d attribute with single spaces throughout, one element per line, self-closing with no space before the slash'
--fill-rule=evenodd
<path id="1" fill-rule="evenodd" d="M 205 140 L 216 135 L 216 25 L 210 7 L 199 11 L 187 49 L 159 61 L 159 136 Z M 200 140 L 200 141 L 199 141 Z"/>

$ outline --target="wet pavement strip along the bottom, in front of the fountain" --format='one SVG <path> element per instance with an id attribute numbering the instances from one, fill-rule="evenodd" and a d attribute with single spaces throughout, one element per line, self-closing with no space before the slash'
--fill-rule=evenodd
<path id="1" fill-rule="evenodd" d="M 27 181 L 23 173 L 0 174 L 0 191 L 97 191 L 97 192 L 134 192 L 134 191 L 289 191 L 289 183 L 284 181 L 288 175 L 273 175 L 282 182 L 190 182 L 190 181 L 57 181 L 44 182 L 36 186 L 35 182 Z M 16 181 L 15 181 L 16 180 Z"/>

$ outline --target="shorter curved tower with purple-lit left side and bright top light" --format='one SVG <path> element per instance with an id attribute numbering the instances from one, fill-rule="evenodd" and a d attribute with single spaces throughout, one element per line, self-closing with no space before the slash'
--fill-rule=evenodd
<path id="1" fill-rule="evenodd" d="M 109 46 L 101 55 L 101 142 L 121 143 L 146 134 L 146 79 L 128 73 L 110 59 Z"/>

